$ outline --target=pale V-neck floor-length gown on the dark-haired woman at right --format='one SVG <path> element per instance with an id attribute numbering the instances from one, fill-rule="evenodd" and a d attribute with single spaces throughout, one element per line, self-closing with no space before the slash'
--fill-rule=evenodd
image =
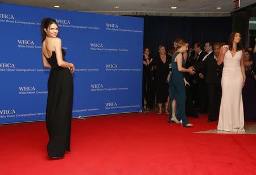
<path id="1" fill-rule="evenodd" d="M 228 50 L 224 56 L 221 79 L 222 97 L 217 127 L 221 131 L 245 131 L 242 101 L 243 75 L 240 65 L 242 54 L 242 50 L 239 50 L 232 57 Z"/>

